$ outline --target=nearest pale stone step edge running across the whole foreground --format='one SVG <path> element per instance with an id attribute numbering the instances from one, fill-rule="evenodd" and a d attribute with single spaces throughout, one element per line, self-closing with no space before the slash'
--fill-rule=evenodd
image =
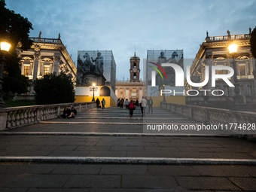
<path id="1" fill-rule="evenodd" d="M 0 157 L 0 162 L 30 163 L 111 163 L 111 164 L 200 164 L 200 165 L 249 165 L 255 166 L 253 159 L 215 159 L 215 158 L 151 158 L 151 157 Z"/>

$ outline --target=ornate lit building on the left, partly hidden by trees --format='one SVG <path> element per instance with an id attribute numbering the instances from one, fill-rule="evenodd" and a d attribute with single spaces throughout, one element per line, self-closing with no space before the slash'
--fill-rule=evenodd
<path id="1" fill-rule="evenodd" d="M 29 50 L 21 51 L 19 44 L 17 46 L 20 57 L 21 74 L 29 78 L 29 87 L 27 95 L 34 95 L 32 81 L 41 78 L 44 75 L 56 72 L 65 72 L 70 75 L 75 82 L 77 69 L 75 63 L 62 41 L 59 38 L 41 38 L 41 32 L 38 38 L 30 38 L 33 42 Z"/>

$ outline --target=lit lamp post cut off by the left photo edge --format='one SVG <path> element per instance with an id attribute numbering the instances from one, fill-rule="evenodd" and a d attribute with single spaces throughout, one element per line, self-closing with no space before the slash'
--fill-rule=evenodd
<path id="1" fill-rule="evenodd" d="M 1 64 L 1 69 L 0 69 L 0 108 L 5 108 L 5 102 L 2 96 L 2 79 L 3 79 L 3 73 L 4 73 L 4 66 L 5 66 L 5 54 L 8 53 L 9 49 L 11 47 L 11 44 L 8 44 L 7 41 L 0 41 L 0 51 L 1 51 L 1 56 L 0 56 L 0 64 Z"/>

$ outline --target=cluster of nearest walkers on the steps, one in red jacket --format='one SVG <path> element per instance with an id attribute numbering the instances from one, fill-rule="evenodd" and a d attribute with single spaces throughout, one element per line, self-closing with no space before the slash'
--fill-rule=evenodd
<path id="1" fill-rule="evenodd" d="M 126 99 L 126 100 L 128 100 L 128 99 Z M 133 117 L 133 110 L 136 109 L 136 102 L 133 102 L 133 100 L 131 99 L 130 102 L 129 102 L 128 108 L 130 109 L 130 117 Z M 141 111 L 142 111 L 142 117 L 145 117 L 146 108 L 148 108 L 148 113 L 150 113 L 150 111 L 151 111 L 151 114 L 152 114 L 153 113 L 153 100 L 152 100 L 152 98 L 150 97 L 150 99 L 147 99 L 146 96 L 142 96 L 142 100 L 140 102 L 140 108 L 141 108 Z"/>

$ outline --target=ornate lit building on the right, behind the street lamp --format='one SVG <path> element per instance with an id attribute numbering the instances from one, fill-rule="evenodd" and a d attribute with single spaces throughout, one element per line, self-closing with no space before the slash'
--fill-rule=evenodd
<path id="1" fill-rule="evenodd" d="M 218 37 L 209 37 L 207 32 L 206 39 L 203 44 L 200 45 L 200 50 L 190 67 L 190 79 L 194 83 L 203 82 L 206 77 L 206 66 L 209 66 L 209 82 L 203 87 L 191 87 L 190 84 L 187 83 L 187 79 L 185 79 L 185 92 L 187 93 L 187 90 L 210 90 L 207 91 L 206 94 L 211 98 L 209 93 L 211 93 L 212 90 L 223 90 L 224 95 L 221 97 L 230 98 L 232 100 L 232 97 L 235 96 L 234 87 L 229 87 L 222 79 L 217 79 L 215 81 L 215 87 L 212 87 L 211 75 L 212 66 L 230 66 L 232 68 L 236 67 L 240 94 L 245 96 L 248 104 L 256 103 L 256 81 L 253 75 L 255 66 L 254 57 L 251 54 L 250 38 L 251 29 L 249 29 L 248 34 L 244 35 L 230 35 L 230 31 L 227 30 L 227 35 Z M 235 66 L 233 66 L 233 58 L 227 50 L 227 46 L 231 41 L 235 41 L 236 44 L 238 44 L 237 53 L 234 57 Z M 216 70 L 215 73 L 224 75 L 229 72 L 227 70 Z M 234 84 L 233 77 L 228 79 Z M 193 96 L 187 96 L 186 102 L 187 99 L 191 99 L 192 97 Z M 220 97 L 217 98 L 216 96 L 212 96 L 212 98 L 220 99 Z"/>

